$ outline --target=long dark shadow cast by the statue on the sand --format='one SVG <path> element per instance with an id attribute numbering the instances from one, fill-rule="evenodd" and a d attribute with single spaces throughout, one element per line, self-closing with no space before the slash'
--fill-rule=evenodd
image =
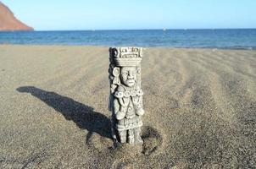
<path id="1" fill-rule="evenodd" d="M 73 99 L 58 95 L 55 92 L 38 89 L 34 86 L 17 88 L 20 93 L 30 93 L 48 106 L 60 112 L 66 120 L 72 120 L 79 128 L 88 130 L 86 143 L 93 133 L 111 139 L 111 123 L 108 117 L 94 112 L 91 106 L 86 106 Z"/>

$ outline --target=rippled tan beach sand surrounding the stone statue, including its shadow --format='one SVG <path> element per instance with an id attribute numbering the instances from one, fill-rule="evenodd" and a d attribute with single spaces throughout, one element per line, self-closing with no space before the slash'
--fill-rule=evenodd
<path id="1" fill-rule="evenodd" d="M 118 149 L 108 54 L 0 46 L 0 168 L 255 168 L 256 51 L 146 48 L 145 143 Z"/>

